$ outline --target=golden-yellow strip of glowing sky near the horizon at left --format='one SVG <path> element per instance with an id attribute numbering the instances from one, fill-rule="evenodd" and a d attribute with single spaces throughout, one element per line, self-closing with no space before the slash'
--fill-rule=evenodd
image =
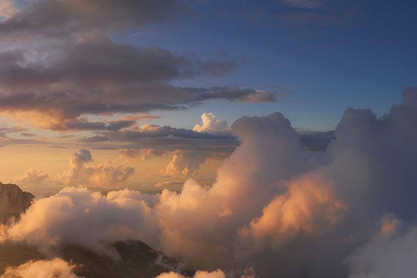
<path id="1" fill-rule="evenodd" d="M 17 183 L 25 190 L 29 190 L 37 195 L 55 193 L 63 186 L 90 186 L 111 190 L 115 188 L 136 188 L 144 192 L 158 191 L 163 188 L 179 190 L 181 183 L 188 176 L 170 177 L 167 175 L 156 174 L 164 170 L 172 161 L 172 154 L 165 153 L 161 156 L 154 156 L 141 160 L 140 158 L 129 159 L 120 154 L 119 150 L 91 150 L 94 161 L 85 165 L 86 167 L 97 167 L 106 165 L 108 167 L 133 167 L 135 170 L 122 185 L 113 186 L 100 185 L 99 183 L 74 183 L 63 184 L 58 179 L 70 168 L 70 156 L 78 149 L 54 148 L 54 147 L 34 147 L 30 145 L 12 145 L 0 149 L 2 158 L 0 159 L 0 177 L 3 183 Z M 198 174 L 193 176 L 201 180 L 206 185 L 213 182 L 215 171 L 220 166 L 221 159 L 209 158 L 199 166 Z M 106 167 L 105 166 L 105 167 Z M 37 170 L 47 174 L 47 178 L 27 177 L 27 172 Z M 26 177 L 26 179 L 25 179 Z M 191 176 L 190 176 L 191 177 Z"/>

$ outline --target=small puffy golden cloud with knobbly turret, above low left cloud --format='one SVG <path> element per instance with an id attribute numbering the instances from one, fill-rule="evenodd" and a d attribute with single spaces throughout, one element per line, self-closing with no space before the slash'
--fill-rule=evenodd
<path id="1" fill-rule="evenodd" d="M 94 161 L 88 149 L 80 149 L 70 158 L 70 170 L 62 176 L 56 177 L 56 181 L 67 186 L 104 186 L 115 187 L 129 179 L 135 173 L 132 167 L 123 165 L 106 165 L 100 163 L 95 166 L 85 166 Z"/>

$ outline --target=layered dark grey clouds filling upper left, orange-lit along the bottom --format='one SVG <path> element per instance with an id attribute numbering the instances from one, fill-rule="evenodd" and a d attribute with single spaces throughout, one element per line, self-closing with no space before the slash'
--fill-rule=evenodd
<path id="1" fill-rule="evenodd" d="M 3 3 L 3 2 L 2 2 Z M 33 47 L 0 53 L 0 113 L 56 131 L 118 131 L 133 120 L 91 121 L 88 116 L 183 110 L 212 99 L 270 102 L 271 92 L 240 86 L 173 85 L 201 77 L 221 77 L 234 60 L 172 54 L 161 47 L 138 47 L 110 34 L 144 28 L 186 13 L 174 0 L 4 1 L 0 22 L 5 41 L 33 39 Z M 85 138 L 85 140 L 88 140 Z"/>

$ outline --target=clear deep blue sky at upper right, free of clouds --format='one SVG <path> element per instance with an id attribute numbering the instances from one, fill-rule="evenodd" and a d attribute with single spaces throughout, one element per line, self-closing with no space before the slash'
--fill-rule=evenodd
<path id="1" fill-rule="evenodd" d="M 228 122 L 280 111 L 296 127 L 334 129 L 345 108 L 371 108 L 383 115 L 400 103 L 404 88 L 416 85 L 416 1 L 322 1 L 318 8 L 280 1 L 187 3 L 191 15 L 115 39 L 238 61 L 227 76 L 179 85 L 241 85 L 281 97 L 272 104 L 214 101 L 160 113 L 169 116 L 161 123 L 190 127 L 204 111 Z"/>

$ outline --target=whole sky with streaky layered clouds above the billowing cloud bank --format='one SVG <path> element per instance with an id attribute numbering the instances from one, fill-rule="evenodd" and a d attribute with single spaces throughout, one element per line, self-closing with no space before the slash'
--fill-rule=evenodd
<path id="1" fill-rule="evenodd" d="M 209 184 L 243 115 L 333 131 L 345 108 L 382 116 L 416 85 L 414 1 L 133 2 L 1 2 L 3 179 L 62 186 L 88 149 L 85 165 L 133 167 L 115 179 L 147 189 L 178 183 L 195 152 L 181 181 Z M 227 124 L 193 131 L 208 114 Z"/>

